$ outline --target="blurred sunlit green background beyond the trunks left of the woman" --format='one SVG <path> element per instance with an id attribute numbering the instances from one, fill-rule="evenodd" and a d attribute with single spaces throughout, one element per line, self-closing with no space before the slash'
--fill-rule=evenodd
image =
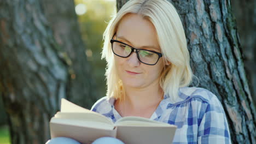
<path id="1" fill-rule="evenodd" d="M 106 61 L 101 59 L 103 46 L 102 34 L 117 9 L 115 0 L 74 0 L 75 13 L 78 16 L 80 32 L 86 46 L 86 56 L 92 65 L 92 74 L 97 83 L 100 97 L 106 94 L 105 67 Z M 0 99 L 0 143 L 8 144 L 9 131 L 3 101 Z"/>

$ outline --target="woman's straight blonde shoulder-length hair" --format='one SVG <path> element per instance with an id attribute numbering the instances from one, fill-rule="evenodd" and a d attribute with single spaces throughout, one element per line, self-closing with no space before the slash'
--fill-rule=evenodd
<path id="1" fill-rule="evenodd" d="M 165 65 L 160 75 L 160 86 L 171 100 L 178 97 L 179 87 L 188 86 L 193 73 L 189 64 L 189 52 L 181 19 L 173 7 L 166 0 L 130 0 L 110 20 L 103 33 L 104 45 L 102 58 L 107 61 L 106 79 L 107 96 L 115 99 L 124 99 L 124 88 L 115 67 L 114 54 L 110 39 L 117 31 L 120 20 L 129 13 L 138 14 L 153 23 L 158 34 Z"/>

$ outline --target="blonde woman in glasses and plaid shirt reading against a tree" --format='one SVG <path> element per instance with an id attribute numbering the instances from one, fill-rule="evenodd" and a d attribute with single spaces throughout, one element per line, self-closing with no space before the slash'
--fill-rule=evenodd
<path id="1" fill-rule="evenodd" d="M 104 32 L 102 58 L 107 96 L 92 111 L 113 122 L 139 116 L 177 125 L 173 143 L 231 143 L 216 95 L 187 87 L 193 73 L 182 22 L 171 3 L 127 2 Z"/>

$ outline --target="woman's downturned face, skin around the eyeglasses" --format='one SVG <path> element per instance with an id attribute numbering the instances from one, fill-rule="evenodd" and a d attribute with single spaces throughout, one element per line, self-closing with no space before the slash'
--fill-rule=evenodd
<path id="1" fill-rule="evenodd" d="M 122 41 L 136 49 L 161 52 L 153 24 L 137 14 L 127 14 L 119 22 L 114 39 Z M 124 86 L 146 88 L 159 83 L 164 68 L 162 57 L 155 65 L 139 62 L 135 52 L 127 58 L 114 55 L 118 75 Z"/>

